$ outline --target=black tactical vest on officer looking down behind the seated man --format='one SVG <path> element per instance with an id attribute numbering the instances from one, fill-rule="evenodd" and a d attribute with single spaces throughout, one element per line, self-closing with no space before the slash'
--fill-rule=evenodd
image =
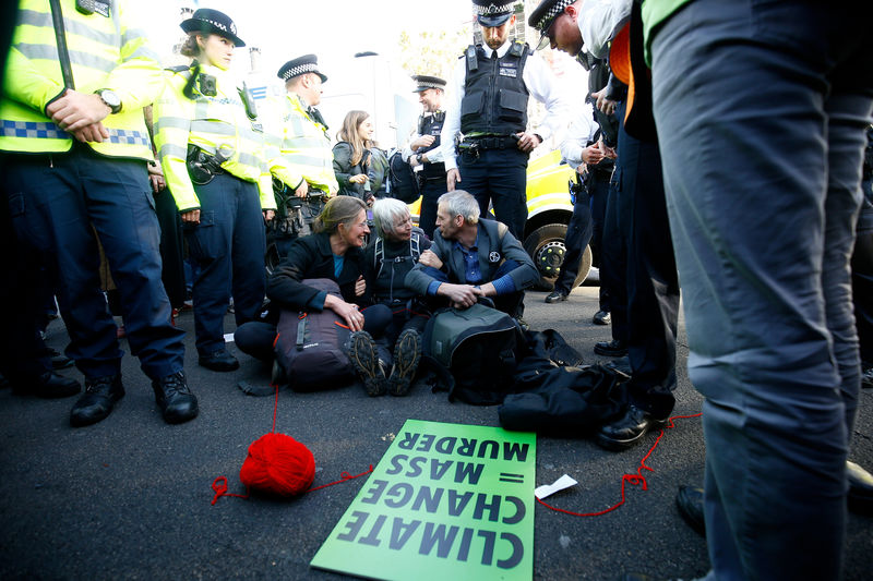
<path id="1" fill-rule="evenodd" d="M 511 135 L 527 129 L 529 92 L 522 78 L 530 47 L 513 43 L 501 59 L 481 45 L 467 47 L 467 76 L 461 101 L 461 132 Z"/>

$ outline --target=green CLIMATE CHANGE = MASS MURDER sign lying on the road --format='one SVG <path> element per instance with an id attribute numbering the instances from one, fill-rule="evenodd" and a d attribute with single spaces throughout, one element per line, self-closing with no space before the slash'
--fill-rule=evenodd
<path id="1" fill-rule="evenodd" d="M 530 579 L 536 441 L 407 420 L 310 565 L 372 579 Z"/>

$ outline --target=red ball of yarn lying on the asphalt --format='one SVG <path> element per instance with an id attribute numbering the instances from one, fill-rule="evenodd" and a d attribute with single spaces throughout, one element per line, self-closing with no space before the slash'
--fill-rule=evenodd
<path id="1" fill-rule="evenodd" d="M 250 488 L 294 496 L 315 480 L 315 458 L 291 436 L 271 432 L 249 446 L 239 480 Z"/>

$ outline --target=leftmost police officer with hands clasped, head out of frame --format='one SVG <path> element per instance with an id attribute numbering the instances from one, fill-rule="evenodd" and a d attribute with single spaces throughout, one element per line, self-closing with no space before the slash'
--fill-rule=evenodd
<path id="1" fill-rule="evenodd" d="M 124 396 L 123 353 L 99 290 L 96 231 L 131 351 L 152 379 L 164 420 L 184 422 L 196 415 L 198 401 L 182 370 L 183 332 L 170 323 L 160 282 L 146 171 L 152 148 L 143 106 L 162 90 L 160 66 L 130 2 L 61 0 L 59 8 L 63 26 L 56 29 L 48 2 L 20 3 L 0 100 L 0 149 L 17 240 L 53 261 L 60 277 L 67 353 L 85 375 L 70 421 L 99 422 Z"/>

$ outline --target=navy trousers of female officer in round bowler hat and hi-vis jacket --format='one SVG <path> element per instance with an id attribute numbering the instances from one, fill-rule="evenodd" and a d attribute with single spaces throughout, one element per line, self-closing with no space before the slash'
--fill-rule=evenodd
<path id="1" fill-rule="evenodd" d="M 184 223 L 199 270 L 194 277 L 194 328 L 201 354 L 225 349 L 224 319 L 232 292 L 237 326 L 253 320 L 264 302 L 266 237 L 258 185 L 219 173 L 195 185 L 200 223 Z"/>

